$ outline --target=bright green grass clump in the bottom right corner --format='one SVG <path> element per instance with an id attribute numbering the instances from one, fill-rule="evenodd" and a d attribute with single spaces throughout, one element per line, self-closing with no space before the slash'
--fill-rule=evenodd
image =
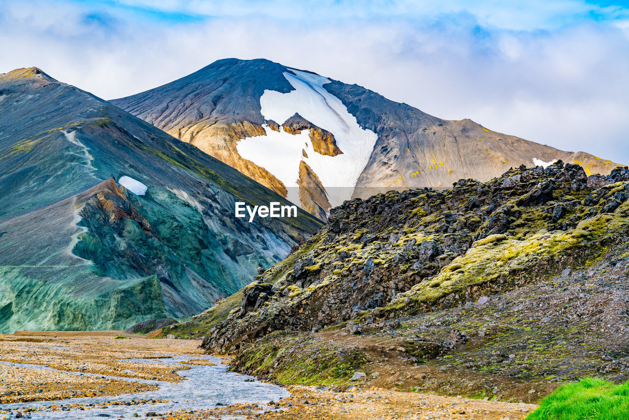
<path id="1" fill-rule="evenodd" d="M 526 417 L 526 420 L 555 419 L 629 419 L 629 382 L 615 385 L 602 379 L 585 378 L 562 385 Z"/>

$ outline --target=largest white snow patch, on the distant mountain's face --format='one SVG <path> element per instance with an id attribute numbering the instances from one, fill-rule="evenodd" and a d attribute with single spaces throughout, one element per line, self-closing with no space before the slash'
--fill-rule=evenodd
<path id="1" fill-rule="evenodd" d="M 264 91 L 260 98 L 262 116 L 282 123 L 295 113 L 331 132 L 343 154 L 324 156 L 313 150 L 309 130 L 292 135 L 284 130 L 276 132 L 264 126 L 266 136 L 240 140 L 240 156 L 264 167 L 284 183 L 289 191 L 287 199 L 299 205 L 299 162 L 304 161 L 319 177 L 334 207 L 348 200 L 360 173 L 374 150 L 377 135 L 360 128 L 356 118 L 343 103 L 323 88 L 330 79 L 298 70 L 284 72 L 294 91 L 280 93 Z M 305 146 L 304 146 L 305 144 Z M 306 150 L 308 157 L 302 155 Z M 340 188 L 338 188 L 340 187 Z"/>

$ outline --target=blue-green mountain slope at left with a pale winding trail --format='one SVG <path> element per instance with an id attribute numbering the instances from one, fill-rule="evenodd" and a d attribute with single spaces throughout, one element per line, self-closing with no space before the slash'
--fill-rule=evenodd
<path id="1" fill-rule="evenodd" d="M 0 74 L 0 332 L 201 312 L 320 227 L 191 144 L 35 67 Z"/>

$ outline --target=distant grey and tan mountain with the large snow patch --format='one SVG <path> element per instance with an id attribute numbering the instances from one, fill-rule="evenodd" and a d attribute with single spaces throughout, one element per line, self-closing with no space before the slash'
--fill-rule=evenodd
<path id="1" fill-rule="evenodd" d="M 320 219 L 353 197 L 487 181 L 521 164 L 560 159 L 587 174 L 616 166 L 471 120 L 442 120 L 362 86 L 264 59 L 218 60 L 113 103 Z"/>

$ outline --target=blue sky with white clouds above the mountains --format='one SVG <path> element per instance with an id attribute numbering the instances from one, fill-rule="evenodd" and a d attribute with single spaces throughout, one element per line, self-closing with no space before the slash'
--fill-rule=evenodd
<path id="1" fill-rule="evenodd" d="M 629 164 L 629 1 L 0 0 L 0 46 L 104 99 L 266 58 Z"/>

